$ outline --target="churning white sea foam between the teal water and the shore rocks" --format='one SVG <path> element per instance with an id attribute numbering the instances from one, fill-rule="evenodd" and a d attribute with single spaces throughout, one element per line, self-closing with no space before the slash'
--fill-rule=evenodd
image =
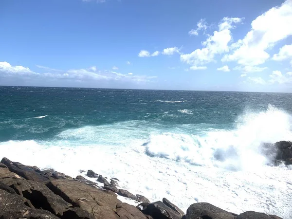
<path id="1" fill-rule="evenodd" d="M 0 148 L 1 156 L 72 177 L 79 169 L 116 177 L 121 188 L 150 201 L 165 197 L 184 211 L 200 201 L 237 214 L 253 210 L 291 219 L 292 166 L 266 165 L 270 157 L 259 146 L 292 140 L 290 124 L 290 115 L 270 106 L 247 110 L 230 131 L 192 133 L 194 125 L 168 129 L 127 121 L 68 129 L 50 142 L 2 142 Z"/>

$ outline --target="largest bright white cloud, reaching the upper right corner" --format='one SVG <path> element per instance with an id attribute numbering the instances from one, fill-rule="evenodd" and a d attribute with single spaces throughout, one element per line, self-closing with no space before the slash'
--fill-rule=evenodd
<path id="1" fill-rule="evenodd" d="M 251 31 L 233 45 L 235 50 L 224 55 L 222 61 L 237 61 L 248 66 L 265 63 L 270 57 L 266 50 L 292 35 L 292 0 L 271 8 L 253 20 L 251 25 Z"/>

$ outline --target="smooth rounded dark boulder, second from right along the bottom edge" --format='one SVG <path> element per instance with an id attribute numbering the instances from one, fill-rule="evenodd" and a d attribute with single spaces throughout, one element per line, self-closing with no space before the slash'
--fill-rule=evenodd
<path id="1" fill-rule="evenodd" d="M 236 219 L 235 214 L 229 213 L 209 203 L 194 203 L 186 211 L 183 219 Z M 239 218 L 238 218 L 239 219 Z M 257 218 L 253 218 L 257 219 Z"/>

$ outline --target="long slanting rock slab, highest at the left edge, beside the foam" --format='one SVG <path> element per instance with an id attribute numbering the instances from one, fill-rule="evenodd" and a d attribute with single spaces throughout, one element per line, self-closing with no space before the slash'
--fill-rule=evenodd
<path id="1" fill-rule="evenodd" d="M 5 164 L 11 172 L 18 174 L 27 180 L 32 180 L 36 182 L 46 182 L 53 179 L 46 175 L 44 172 L 40 171 L 38 168 L 32 166 L 26 166 L 18 162 L 12 162 L 7 158 L 3 158 L 1 163 Z"/>

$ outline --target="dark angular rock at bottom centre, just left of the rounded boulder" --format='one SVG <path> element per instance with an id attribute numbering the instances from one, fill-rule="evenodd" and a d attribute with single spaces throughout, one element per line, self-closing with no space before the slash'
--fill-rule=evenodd
<path id="1" fill-rule="evenodd" d="M 162 201 L 142 203 L 137 207 L 141 209 L 144 214 L 150 215 L 153 219 L 182 219 L 179 213 L 166 206 Z"/>

